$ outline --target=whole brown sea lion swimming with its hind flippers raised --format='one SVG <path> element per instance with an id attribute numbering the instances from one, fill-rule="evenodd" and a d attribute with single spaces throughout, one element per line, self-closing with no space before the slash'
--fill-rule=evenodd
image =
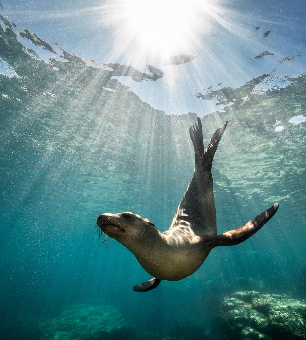
<path id="1" fill-rule="evenodd" d="M 190 126 L 195 154 L 194 173 L 169 230 L 160 233 L 151 221 L 129 211 L 104 213 L 98 217 L 97 230 L 128 248 L 141 267 L 153 276 L 134 286 L 133 290 L 149 291 L 161 280 L 177 281 L 193 274 L 213 248 L 245 241 L 277 211 L 278 203 L 275 203 L 242 227 L 217 235 L 211 166 L 226 125 L 227 122 L 214 133 L 205 152 L 200 118 L 198 125 Z"/>

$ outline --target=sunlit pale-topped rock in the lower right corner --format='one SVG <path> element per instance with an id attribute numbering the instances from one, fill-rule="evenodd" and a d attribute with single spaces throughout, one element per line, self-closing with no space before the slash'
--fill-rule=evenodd
<path id="1" fill-rule="evenodd" d="M 242 291 L 224 298 L 221 313 L 224 330 L 235 339 L 305 339 L 305 299 Z"/>

